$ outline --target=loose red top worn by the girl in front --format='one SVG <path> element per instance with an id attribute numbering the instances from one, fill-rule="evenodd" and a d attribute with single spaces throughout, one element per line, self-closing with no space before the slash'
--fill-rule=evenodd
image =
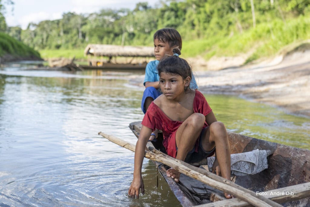
<path id="1" fill-rule="evenodd" d="M 194 113 L 201 113 L 203 115 L 209 114 L 212 109 L 210 108 L 206 98 L 202 95 L 201 92 L 195 90 L 195 97 L 193 102 Z M 179 126 L 182 124 L 182 121 L 171 120 L 154 102 L 150 104 L 148 110 L 146 111 L 144 118 L 142 120 L 142 125 L 152 129 L 153 131 L 157 128 L 162 130 L 164 135 L 163 146 L 166 149 L 166 152 L 171 157 L 176 157 L 176 143 L 175 143 L 175 133 Z M 205 124 L 202 129 L 206 128 L 208 124 L 205 121 Z M 198 151 L 198 142 L 195 144 L 195 151 Z"/>

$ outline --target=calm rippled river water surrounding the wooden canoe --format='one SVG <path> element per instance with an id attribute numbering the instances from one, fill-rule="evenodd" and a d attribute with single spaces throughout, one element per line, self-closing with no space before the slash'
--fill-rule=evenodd
<path id="1" fill-rule="evenodd" d="M 147 159 L 145 195 L 128 198 L 134 153 L 99 136 L 135 144 L 129 123 L 142 120 L 143 71 L 0 68 L 0 206 L 177 206 Z M 199 83 L 198 83 L 199 85 Z M 205 94 L 228 130 L 310 149 L 310 119 L 238 97 Z"/>

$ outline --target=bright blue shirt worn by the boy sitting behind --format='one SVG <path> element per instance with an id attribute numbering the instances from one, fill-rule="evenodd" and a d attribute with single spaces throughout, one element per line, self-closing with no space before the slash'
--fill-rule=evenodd
<path id="1" fill-rule="evenodd" d="M 158 60 L 154 60 L 154 61 L 150 61 L 145 68 L 145 78 L 144 78 L 144 82 L 143 85 L 145 86 L 146 82 L 155 82 L 155 81 L 159 81 L 159 75 L 158 75 L 158 70 L 157 70 L 157 65 L 158 65 L 159 61 Z M 198 89 L 194 74 L 192 73 L 192 80 L 191 83 L 189 85 L 189 88 L 192 89 Z"/>

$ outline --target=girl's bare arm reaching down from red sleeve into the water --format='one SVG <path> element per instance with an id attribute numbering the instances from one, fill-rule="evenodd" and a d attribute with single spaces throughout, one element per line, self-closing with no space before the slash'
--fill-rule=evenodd
<path id="1" fill-rule="evenodd" d="M 128 190 L 128 195 L 133 198 L 139 198 L 139 193 L 144 194 L 144 184 L 142 179 L 142 162 L 144 158 L 145 146 L 148 138 L 151 136 L 152 129 L 142 125 L 140 135 L 135 148 L 135 165 L 134 165 L 134 179 Z"/>

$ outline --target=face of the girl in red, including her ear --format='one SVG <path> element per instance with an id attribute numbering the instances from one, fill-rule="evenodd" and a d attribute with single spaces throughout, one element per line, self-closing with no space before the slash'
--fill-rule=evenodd
<path id="1" fill-rule="evenodd" d="M 180 75 L 171 75 L 162 72 L 160 74 L 159 86 L 167 99 L 178 99 L 184 92 L 184 87 L 189 86 L 190 77 L 183 79 Z"/>

